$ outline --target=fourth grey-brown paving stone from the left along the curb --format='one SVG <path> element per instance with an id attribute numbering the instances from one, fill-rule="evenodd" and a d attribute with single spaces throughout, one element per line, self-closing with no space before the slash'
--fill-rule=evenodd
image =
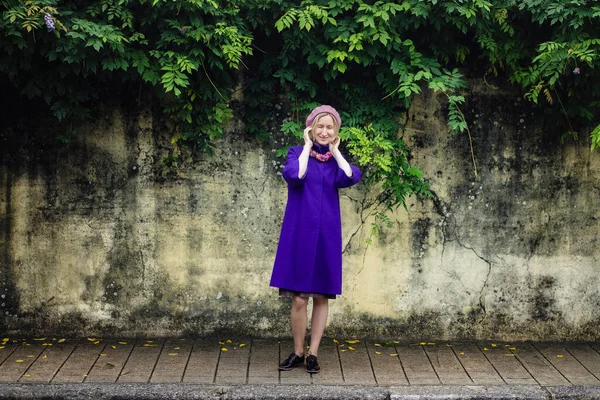
<path id="1" fill-rule="evenodd" d="M 110 340 L 105 347 L 106 356 L 98 357 L 85 382 L 116 382 L 131 355 L 135 340 Z"/>

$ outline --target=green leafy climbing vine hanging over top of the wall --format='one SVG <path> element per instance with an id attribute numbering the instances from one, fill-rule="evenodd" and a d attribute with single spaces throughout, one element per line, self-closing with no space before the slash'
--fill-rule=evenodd
<path id="1" fill-rule="evenodd" d="M 466 133 L 477 175 L 461 111 L 464 71 L 520 86 L 557 110 L 563 136 L 592 128 L 591 149 L 600 147 L 600 5 L 591 0 L 0 4 L 2 84 L 42 100 L 58 121 L 89 117 L 118 85 L 160 104 L 173 143 L 208 150 L 234 108 L 249 133 L 267 138 L 265 115 L 282 96 L 290 134 L 315 104 L 334 104 L 344 111 L 345 146 L 383 209 L 429 194 L 402 138 L 411 99 L 423 90 L 446 99 L 449 129 Z"/>

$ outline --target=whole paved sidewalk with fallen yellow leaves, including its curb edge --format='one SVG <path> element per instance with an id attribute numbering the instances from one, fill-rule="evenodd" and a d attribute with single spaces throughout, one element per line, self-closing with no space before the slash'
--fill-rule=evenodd
<path id="1" fill-rule="evenodd" d="M 600 399 L 600 343 L 324 338 L 315 375 L 277 370 L 291 349 L 276 339 L 0 337 L 0 398 Z"/>

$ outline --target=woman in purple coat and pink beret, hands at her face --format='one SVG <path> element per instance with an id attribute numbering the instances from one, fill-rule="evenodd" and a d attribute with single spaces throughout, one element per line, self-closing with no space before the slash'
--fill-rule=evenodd
<path id="1" fill-rule="evenodd" d="M 279 366 L 288 371 L 304 364 L 308 298 L 313 298 L 310 350 L 306 370 L 317 373 L 319 344 L 325 330 L 329 299 L 342 293 L 342 226 L 339 188 L 356 184 L 360 170 L 350 165 L 339 145 L 342 120 L 331 106 L 312 110 L 306 118 L 304 146 L 289 149 L 283 169 L 288 183 L 279 246 L 271 286 L 292 297 L 294 351 Z"/>

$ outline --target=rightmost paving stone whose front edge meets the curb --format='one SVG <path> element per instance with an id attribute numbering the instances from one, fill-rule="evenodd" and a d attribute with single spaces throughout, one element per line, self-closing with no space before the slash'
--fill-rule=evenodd
<path id="1" fill-rule="evenodd" d="M 585 369 L 563 346 L 537 343 L 534 347 L 573 385 L 600 384 L 600 381 Z"/>

